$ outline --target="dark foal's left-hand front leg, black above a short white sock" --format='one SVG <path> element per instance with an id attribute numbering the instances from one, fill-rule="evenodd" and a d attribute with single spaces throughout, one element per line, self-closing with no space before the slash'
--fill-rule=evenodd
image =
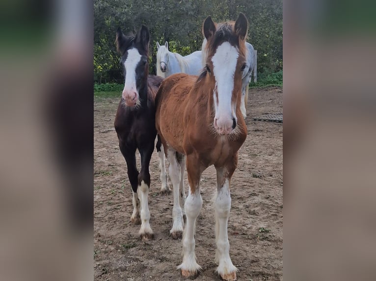
<path id="1" fill-rule="evenodd" d="M 122 151 L 123 152 L 123 151 Z M 134 155 L 134 152 L 127 152 L 124 153 L 124 158 L 125 161 L 127 162 L 127 167 L 128 167 L 128 178 L 131 183 L 131 187 L 133 190 L 133 213 L 131 216 L 131 221 L 134 224 L 140 224 L 141 219 L 140 219 L 140 201 L 138 199 L 137 195 L 137 186 L 138 186 L 138 171 L 136 167 L 136 157 Z"/>

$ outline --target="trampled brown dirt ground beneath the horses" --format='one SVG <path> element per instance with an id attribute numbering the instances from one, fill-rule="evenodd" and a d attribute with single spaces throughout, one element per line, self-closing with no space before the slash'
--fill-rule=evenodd
<path id="1" fill-rule="evenodd" d="M 176 269 L 182 261 L 181 240 L 169 235 L 173 194 L 159 193 L 156 150 L 150 163 L 149 191 L 150 225 L 155 239 L 141 241 L 137 236 L 140 226 L 130 222 L 132 189 L 113 128 L 119 99 L 120 94 L 118 98 L 96 98 L 94 102 L 94 279 L 183 280 Z M 239 269 L 239 281 L 282 280 L 283 127 L 280 123 L 252 120 L 282 112 L 282 88 L 251 89 L 247 110 L 248 136 L 239 151 L 238 168 L 230 187 L 230 256 Z M 211 199 L 215 180 L 212 166 L 202 174 L 200 185 L 203 206 L 196 222 L 195 240 L 197 262 L 203 270 L 197 281 L 220 280 L 214 262 L 215 214 Z M 185 187 L 188 194 L 187 172 Z"/>

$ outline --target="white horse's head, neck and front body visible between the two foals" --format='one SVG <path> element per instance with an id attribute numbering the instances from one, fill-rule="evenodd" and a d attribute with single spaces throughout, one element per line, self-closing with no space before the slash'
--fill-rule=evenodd
<path id="1" fill-rule="evenodd" d="M 166 78 L 174 73 L 199 75 L 202 70 L 201 51 L 195 51 L 187 56 L 168 50 L 168 43 L 161 46 L 157 42 L 157 75 Z"/>

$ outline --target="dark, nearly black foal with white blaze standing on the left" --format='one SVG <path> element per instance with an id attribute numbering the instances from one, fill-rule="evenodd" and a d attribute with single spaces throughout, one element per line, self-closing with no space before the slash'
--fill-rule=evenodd
<path id="1" fill-rule="evenodd" d="M 155 128 L 155 95 L 163 80 L 148 75 L 149 30 L 142 25 L 136 36 L 124 36 L 121 29 L 116 33 L 116 47 L 122 55 L 125 85 L 119 103 L 115 130 L 119 146 L 128 167 L 128 178 L 133 189 L 132 222 L 141 223 L 138 232 L 141 239 L 153 237 L 149 224 L 148 191 L 150 187 L 149 163 L 154 151 L 157 131 Z M 141 156 L 141 170 L 136 167 L 135 152 Z M 167 175 L 164 167 L 164 151 L 161 141 L 157 141 L 157 150 L 161 161 L 161 191 L 167 191 Z"/>

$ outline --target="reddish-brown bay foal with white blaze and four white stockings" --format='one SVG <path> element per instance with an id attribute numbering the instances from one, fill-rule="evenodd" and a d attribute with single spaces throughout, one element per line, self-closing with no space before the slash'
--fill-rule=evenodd
<path id="1" fill-rule="evenodd" d="M 194 252 L 194 227 L 202 207 L 200 177 L 210 165 L 217 174 L 215 199 L 216 271 L 227 281 L 236 280 L 229 254 L 227 221 L 231 207 L 230 181 L 238 163 L 238 150 L 247 136 L 240 109 L 242 71 L 245 69 L 247 20 L 203 24 L 208 57 L 199 77 L 184 73 L 163 80 L 156 97 L 156 127 L 164 146 L 174 189 L 172 236 L 183 229 L 180 182 L 187 165 L 189 190 L 185 201 L 187 224 L 183 235 L 183 277 L 200 270 Z M 207 222 L 210 224 L 210 222 Z"/>

